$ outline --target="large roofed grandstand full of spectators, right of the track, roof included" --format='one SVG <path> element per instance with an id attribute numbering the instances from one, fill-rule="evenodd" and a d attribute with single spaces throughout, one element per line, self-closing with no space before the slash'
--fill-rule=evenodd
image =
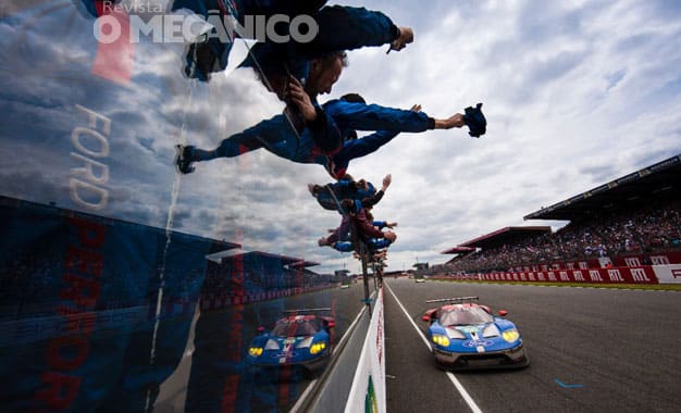
<path id="1" fill-rule="evenodd" d="M 681 154 L 524 216 L 569 224 L 506 227 L 443 251 L 435 271 L 488 273 L 681 263 Z"/>

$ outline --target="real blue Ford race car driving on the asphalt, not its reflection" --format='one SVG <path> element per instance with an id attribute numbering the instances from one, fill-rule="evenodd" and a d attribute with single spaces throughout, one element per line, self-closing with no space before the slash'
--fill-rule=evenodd
<path id="1" fill-rule="evenodd" d="M 513 323 L 498 317 L 486 305 L 474 303 L 478 297 L 429 300 L 442 306 L 428 310 L 428 339 L 435 365 L 450 370 L 525 367 L 530 359 Z"/>

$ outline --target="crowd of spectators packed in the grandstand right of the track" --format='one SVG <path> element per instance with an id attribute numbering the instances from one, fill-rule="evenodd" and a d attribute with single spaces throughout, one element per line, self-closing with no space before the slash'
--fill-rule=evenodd
<path id="1" fill-rule="evenodd" d="M 602 213 L 554 234 L 484 249 L 454 260 L 448 271 L 485 272 L 598 256 L 681 250 L 681 201 Z"/>

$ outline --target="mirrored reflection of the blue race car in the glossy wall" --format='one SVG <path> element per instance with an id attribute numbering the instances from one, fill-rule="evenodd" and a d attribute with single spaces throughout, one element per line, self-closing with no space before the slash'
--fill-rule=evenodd
<path id="1" fill-rule="evenodd" d="M 309 314 L 331 309 L 288 310 L 271 331 L 250 343 L 248 361 L 258 367 L 300 366 L 311 373 L 323 368 L 332 352 L 333 317 Z"/>

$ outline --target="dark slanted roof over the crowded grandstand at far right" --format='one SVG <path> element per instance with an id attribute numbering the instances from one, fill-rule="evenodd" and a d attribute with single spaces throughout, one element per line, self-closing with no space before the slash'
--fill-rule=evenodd
<path id="1" fill-rule="evenodd" d="M 524 220 L 580 221 L 602 212 L 636 208 L 653 200 L 681 199 L 681 154 L 603 184 Z"/>

